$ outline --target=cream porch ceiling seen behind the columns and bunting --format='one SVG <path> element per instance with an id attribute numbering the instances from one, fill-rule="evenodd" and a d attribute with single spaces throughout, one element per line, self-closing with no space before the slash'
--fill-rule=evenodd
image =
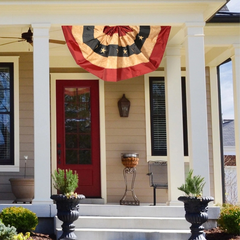
<path id="1" fill-rule="evenodd" d="M 12 26 L 0 26 L 1 37 L 21 37 L 22 32 L 26 32 L 30 25 L 12 25 Z M 239 37 L 236 32 L 238 26 L 230 27 L 231 30 L 227 30 L 227 35 L 219 27 L 214 30 L 214 26 L 205 27 L 205 60 L 206 65 L 216 66 L 229 58 L 232 54 L 232 44 L 234 40 L 238 41 Z M 214 34 L 213 34 L 214 33 Z M 232 37 L 230 37 L 232 36 Z M 50 28 L 50 39 L 63 40 L 61 26 L 52 26 Z M 184 27 L 173 26 L 168 46 L 182 46 L 182 66 L 185 65 L 185 51 L 184 51 Z M 0 45 L 14 41 L 14 39 L 1 39 Z M 74 62 L 67 45 L 49 44 L 50 49 L 50 64 L 52 67 L 78 67 Z M 4 52 L 32 52 L 33 47 L 27 42 L 15 42 L 8 45 L 0 46 L 0 53 Z M 60 58 L 60 57 L 64 58 Z M 68 58 L 68 61 L 66 61 Z M 68 65 L 66 66 L 66 62 Z"/>

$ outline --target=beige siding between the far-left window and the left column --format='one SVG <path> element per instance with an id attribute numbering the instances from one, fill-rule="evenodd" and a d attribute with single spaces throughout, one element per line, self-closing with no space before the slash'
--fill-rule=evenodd
<path id="1" fill-rule="evenodd" d="M 14 200 L 9 178 L 24 176 L 24 155 L 28 155 L 26 175 L 34 174 L 33 144 L 33 56 L 32 53 L 3 54 L 19 56 L 19 134 L 20 134 L 20 171 L 0 172 L 0 200 Z M 1 168 L 1 166 L 0 166 Z"/>

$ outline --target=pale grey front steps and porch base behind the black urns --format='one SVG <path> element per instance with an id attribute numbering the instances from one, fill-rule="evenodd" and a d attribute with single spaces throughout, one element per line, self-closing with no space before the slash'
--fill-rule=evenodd
<path id="1" fill-rule="evenodd" d="M 101 201 L 101 200 L 100 200 Z M 185 240 L 190 236 L 190 223 L 185 218 L 183 205 L 144 203 L 140 206 L 82 203 L 80 217 L 75 222 L 78 239 L 95 240 Z M 35 212 L 39 218 L 36 232 L 61 235 L 62 222 L 56 217 L 56 205 L 49 204 L 0 204 L 0 210 L 9 206 L 23 206 Z M 205 229 L 216 227 L 219 207 L 209 206 L 209 220 Z"/>

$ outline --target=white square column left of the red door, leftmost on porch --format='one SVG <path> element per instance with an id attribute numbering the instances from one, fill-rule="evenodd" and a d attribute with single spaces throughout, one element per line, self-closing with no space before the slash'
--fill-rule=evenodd
<path id="1" fill-rule="evenodd" d="M 49 28 L 33 24 L 35 203 L 50 203 Z"/>

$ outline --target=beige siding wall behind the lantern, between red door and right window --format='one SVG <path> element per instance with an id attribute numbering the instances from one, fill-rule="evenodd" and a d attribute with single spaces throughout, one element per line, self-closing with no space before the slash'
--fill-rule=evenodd
<path id="1" fill-rule="evenodd" d="M 129 117 L 120 117 L 118 100 L 125 94 L 131 102 Z M 146 160 L 146 126 L 143 76 L 117 83 L 105 83 L 106 164 L 108 203 L 119 203 L 125 192 L 121 153 L 139 153 L 135 194 L 140 203 L 152 203 Z M 131 180 L 131 174 L 128 179 Z M 131 196 L 131 194 L 129 195 Z M 167 191 L 157 191 L 157 202 L 167 201 Z"/>

